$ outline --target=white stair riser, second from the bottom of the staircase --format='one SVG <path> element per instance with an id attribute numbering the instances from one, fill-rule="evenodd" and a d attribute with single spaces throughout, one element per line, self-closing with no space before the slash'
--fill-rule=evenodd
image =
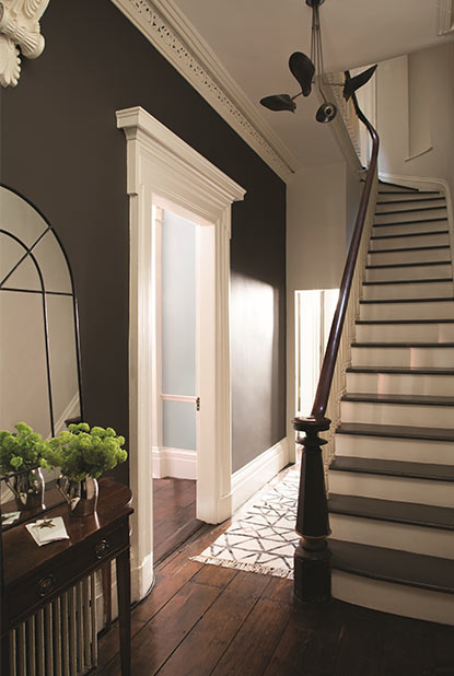
<path id="1" fill-rule="evenodd" d="M 454 532 L 347 514 L 329 514 L 336 540 L 454 559 Z"/>

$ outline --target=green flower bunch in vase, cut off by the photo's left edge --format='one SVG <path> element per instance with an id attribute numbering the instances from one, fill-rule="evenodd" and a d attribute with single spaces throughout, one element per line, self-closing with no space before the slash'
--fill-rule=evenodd
<path id="1" fill-rule="evenodd" d="M 0 471 L 9 474 L 39 465 L 48 467 L 42 435 L 25 422 L 18 422 L 14 428 L 16 432 L 0 431 Z"/>

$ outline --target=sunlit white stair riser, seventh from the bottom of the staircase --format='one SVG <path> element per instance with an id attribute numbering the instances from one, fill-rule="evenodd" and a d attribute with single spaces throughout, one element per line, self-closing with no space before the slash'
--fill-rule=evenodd
<path id="1" fill-rule="evenodd" d="M 450 369 L 454 348 L 352 348 L 352 366 L 416 366 Z"/>

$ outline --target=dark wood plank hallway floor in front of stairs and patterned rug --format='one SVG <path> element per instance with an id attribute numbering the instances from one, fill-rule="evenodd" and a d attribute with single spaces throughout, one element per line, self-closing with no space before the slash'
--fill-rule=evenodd
<path id="1" fill-rule="evenodd" d="M 203 526 L 155 568 L 132 611 L 131 676 L 454 676 L 454 630 L 333 602 L 296 607 L 292 583 L 190 561 L 228 527 Z M 116 625 L 102 676 L 119 676 Z"/>

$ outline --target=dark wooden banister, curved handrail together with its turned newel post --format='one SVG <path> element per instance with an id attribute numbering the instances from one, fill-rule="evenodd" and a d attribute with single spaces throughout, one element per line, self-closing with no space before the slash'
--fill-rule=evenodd
<path id="1" fill-rule="evenodd" d="M 346 71 L 346 79 L 349 77 L 349 72 Z M 372 138 L 371 160 L 344 269 L 339 300 L 329 333 L 314 406 L 310 417 L 296 417 L 292 420 L 294 429 L 304 433 L 299 434 L 296 440 L 303 446 L 303 453 L 296 511 L 296 533 L 301 536 L 301 540 L 294 553 L 294 595 L 296 599 L 306 603 L 326 603 L 331 597 L 331 555 L 326 541 L 330 529 L 325 490 L 325 467 L 322 457 L 322 446 L 327 443 L 327 440 L 321 439 L 319 433 L 328 431 L 331 422 L 325 417 L 325 413 L 341 343 L 350 292 L 353 279 L 356 279 L 358 254 L 362 246 L 362 235 L 379 155 L 379 136 L 360 109 L 354 93 L 352 101 L 359 119 L 365 125 Z"/>

